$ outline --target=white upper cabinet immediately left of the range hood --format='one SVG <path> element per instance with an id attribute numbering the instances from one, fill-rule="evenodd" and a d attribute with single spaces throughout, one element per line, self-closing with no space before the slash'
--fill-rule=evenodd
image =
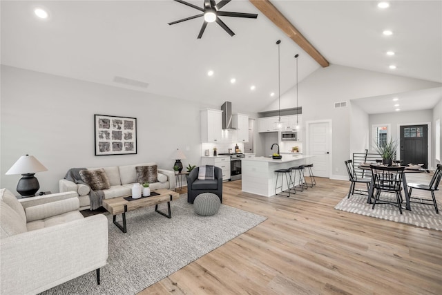
<path id="1" fill-rule="evenodd" d="M 222 111 L 207 108 L 201 111 L 201 142 L 221 142 Z"/>

